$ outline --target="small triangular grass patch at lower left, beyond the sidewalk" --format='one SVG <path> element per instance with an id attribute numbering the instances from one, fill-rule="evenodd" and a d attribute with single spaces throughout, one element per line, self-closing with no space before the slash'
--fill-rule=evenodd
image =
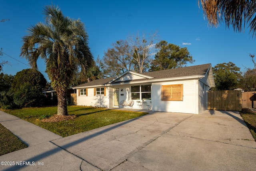
<path id="1" fill-rule="evenodd" d="M 21 142 L 12 132 L 0 124 L 0 155 L 26 148 L 27 145 Z"/>

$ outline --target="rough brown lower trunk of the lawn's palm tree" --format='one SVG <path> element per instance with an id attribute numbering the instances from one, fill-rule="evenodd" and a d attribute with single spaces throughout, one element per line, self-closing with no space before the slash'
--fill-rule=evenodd
<path id="1" fill-rule="evenodd" d="M 67 106 L 67 91 L 64 89 L 56 90 L 58 98 L 58 111 L 57 115 L 68 115 L 68 106 Z"/>

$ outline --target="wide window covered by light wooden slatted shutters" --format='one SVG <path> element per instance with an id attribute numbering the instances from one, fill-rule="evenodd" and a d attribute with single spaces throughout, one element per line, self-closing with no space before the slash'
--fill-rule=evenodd
<path id="1" fill-rule="evenodd" d="M 161 100 L 183 101 L 183 84 L 162 85 Z"/>

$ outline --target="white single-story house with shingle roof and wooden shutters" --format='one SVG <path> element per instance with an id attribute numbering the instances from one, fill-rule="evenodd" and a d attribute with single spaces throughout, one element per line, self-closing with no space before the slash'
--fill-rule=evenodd
<path id="1" fill-rule="evenodd" d="M 120 108 L 122 100 L 133 100 L 132 108 L 200 114 L 207 110 L 207 91 L 214 86 L 212 66 L 204 64 L 142 74 L 126 71 L 73 88 L 80 106 Z"/>

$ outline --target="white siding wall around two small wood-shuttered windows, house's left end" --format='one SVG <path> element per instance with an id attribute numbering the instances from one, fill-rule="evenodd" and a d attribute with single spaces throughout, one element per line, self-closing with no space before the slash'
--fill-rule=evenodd
<path id="1" fill-rule="evenodd" d="M 94 88 L 88 88 L 87 93 L 88 96 L 79 96 L 79 93 L 77 91 L 76 105 L 109 108 L 109 87 L 106 87 L 106 96 L 104 96 L 103 94 L 94 96 Z"/>

